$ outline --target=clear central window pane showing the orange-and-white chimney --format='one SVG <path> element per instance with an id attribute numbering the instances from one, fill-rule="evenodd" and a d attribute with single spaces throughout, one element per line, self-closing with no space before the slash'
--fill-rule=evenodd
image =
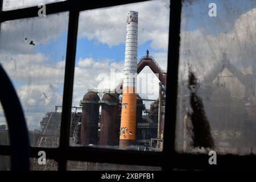
<path id="1" fill-rule="evenodd" d="M 71 146 L 162 150 L 169 15 L 170 1 L 80 13 Z"/>

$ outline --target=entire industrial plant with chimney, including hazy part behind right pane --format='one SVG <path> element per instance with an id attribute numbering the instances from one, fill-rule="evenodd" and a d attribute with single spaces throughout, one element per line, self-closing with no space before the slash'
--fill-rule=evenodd
<path id="1" fill-rule="evenodd" d="M 123 150 L 162 151 L 164 140 L 164 111 L 166 108 L 167 72 L 149 55 L 137 59 L 138 12 L 129 11 L 127 16 L 124 78 L 115 89 L 88 89 L 81 96 L 80 107 L 72 107 L 71 146 L 108 147 Z M 137 62 L 138 60 L 138 62 Z M 137 93 L 137 75 L 148 66 L 159 76 L 159 96 L 155 100 L 143 99 Z M 228 73 L 228 76 L 222 73 Z M 214 150 L 220 153 L 251 154 L 256 152 L 256 85 L 255 73 L 243 74 L 224 53 L 223 59 L 207 76 L 195 80 L 196 93 L 203 101 L 201 113 L 209 123 L 210 137 Z M 176 150 L 193 152 L 193 135 L 196 127 L 191 126 L 189 78 L 179 79 L 176 117 Z M 237 92 L 236 86 L 242 88 Z M 146 108 L 145 101 L 151 101 Z M 61 106 L 49 112 L 40 122 L 38 135 L 34 136 L 37 147 L 58 147 L 60 135 Z M 169 121 L 166 121 L 169 122 Z M 173 122 L 173 121 L 172 121 Z M 201 138 L 204 140 L 204 138 Z M 195 142 L 195 141 L 194 141 Z M 32 169 L 55 170 L 57 163 L 47 160 L 38 165 L 31 159 Z M 114 164 L 87 162 L 67 163 L 71 170 L 125 169 Z M 111 166 L 112 165 L 112 166 Z M 126 168 L 127 169 L 127 168 Z M 139 168 L 137 168 L 139 169 Z M 151 169 L 143 167 L 144 170 Z M 155 168 L 154 168 L 155 169 Z"/>

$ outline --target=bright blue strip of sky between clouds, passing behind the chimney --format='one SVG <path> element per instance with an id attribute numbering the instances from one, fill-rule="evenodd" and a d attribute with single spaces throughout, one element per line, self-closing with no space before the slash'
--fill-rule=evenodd
<path id="1" fill-rule="evenodd" d="M 150 46 L 152 40 L 138 46 L 138 59 L 145 55 L 146 49 L 152 52 L 163 52 L 163 49 L 154 49 Z M 61 32 L 59 38 L 51 40 L 48 44 L 39 44 L 35 46 L 34 51 L 44 53 L 49 57 L 51 63 L 57 63 L 65 59 L 67 46 L 67 31 Z M 77 61 L 82 58 L 92 57 L 94 60 L 110 59 L 114 61 L 125 60 L 125 43 L 118 46 L 109 46 L 108 44 L 100 43 L 96 39 L 89 40 L 88 38 L 77 39 L 76 47 L 76 65 Z"/>

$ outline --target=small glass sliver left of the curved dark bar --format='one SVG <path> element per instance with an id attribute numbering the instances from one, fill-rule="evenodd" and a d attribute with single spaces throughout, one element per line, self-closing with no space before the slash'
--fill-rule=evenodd
<path id="1" fill-rule="evenodd" d="M 0 144 L 4 144 L 4 145 L 10 144 L 7 121 L 5 118 L 5 112 L 3 110 L 1 102 L 0 102 Z"/>

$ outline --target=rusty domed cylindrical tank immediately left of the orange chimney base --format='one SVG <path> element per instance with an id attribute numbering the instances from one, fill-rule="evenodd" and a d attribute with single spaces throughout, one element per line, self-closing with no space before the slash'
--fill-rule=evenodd
<path id="1" fill-rule="evenodd" d="M 105 93 L 102 102 L 100 146 L 118 146 L 120 130 L 118 94 Z"/>

